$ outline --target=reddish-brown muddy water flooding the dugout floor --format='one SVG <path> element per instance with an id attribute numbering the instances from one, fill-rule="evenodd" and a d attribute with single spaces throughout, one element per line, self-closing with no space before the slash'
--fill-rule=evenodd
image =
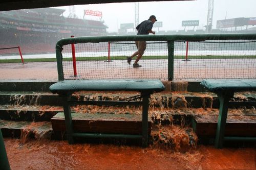
<path id="1" fill-rule="evenodd" d="M 255 149 L 199 146 L 188 152 L 5 138 L 12 169 L 255 169 Z"/>

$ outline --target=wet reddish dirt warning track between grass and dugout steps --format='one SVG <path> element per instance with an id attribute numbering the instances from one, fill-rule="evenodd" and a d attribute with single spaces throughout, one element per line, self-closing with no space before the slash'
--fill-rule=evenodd
<path id="1" fill-rule="evenodd" d="M 253 79 L 256 69 L 253 69 L 255 59 L 228 60 L 225 66 L 218 60 L 191 60 L 184 62 L 175 60 L 174 78 L 177 80 L 202 80 L 220 78 Z M 236 67 L 237 63 L 241 63 Z M 65 78 L 74 78 L 73 64 L 71 61 L 63 62 Z M 77 61 L 77 76 L 83 79 L 161 79 L 167 80 L 167 60 L 142 60 L 140 68 L 133 68 L 126 60 L 104 61 Z M 247 68 L 248 67 L 248 68 Z M 10 80 L 50 80 L 57 81 L 57 62 L 29 62 L 26 64 L 1 63 L 0 79 Z"/>

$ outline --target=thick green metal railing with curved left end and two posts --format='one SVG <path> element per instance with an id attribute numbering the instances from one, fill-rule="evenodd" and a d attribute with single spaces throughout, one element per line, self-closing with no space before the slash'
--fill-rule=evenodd
<path id="1" fill-rule="evenodd" d="M 256 40 L 256 34 L 200 34 L 200 35 L 131 35 L 131 36 L 94 36 L 64 38 L 56 44 L 56 57 L 59 81 L 64 80 L 62 68 L 62 47 L 77 43 L 99 43 L 109 41 L 167 41 L 168 48 L 168 80 L 174 79 L 174 42 L 205 40 Z"/>

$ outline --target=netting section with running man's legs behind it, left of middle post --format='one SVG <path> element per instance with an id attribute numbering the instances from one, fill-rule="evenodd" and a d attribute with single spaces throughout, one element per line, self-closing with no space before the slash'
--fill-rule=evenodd
<path id="1" fill-rule="evenodd" d="M 126 61 L 137 51 L 135 42 L 111 42 L 110 60 L 108 42 L 75 44 L 77 77 L 79 79 L 166 79 L 167 42 L 148 41 L 138 62 L 142 67 L 133 68 Z M 63 46 L 63 58 L 72 58 L 71 45 Z M 72 61 L 63 61 L 65 79 L 73 79 Z"/>

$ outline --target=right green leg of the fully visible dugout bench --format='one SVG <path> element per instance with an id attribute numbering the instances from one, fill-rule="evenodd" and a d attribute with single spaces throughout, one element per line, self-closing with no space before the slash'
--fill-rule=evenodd
<path id="1" fill-rule="evenodd" d="M 148 98 L 150 95 L 142 94 L 142 147 L 147 147 L 148 145 Z"/>

